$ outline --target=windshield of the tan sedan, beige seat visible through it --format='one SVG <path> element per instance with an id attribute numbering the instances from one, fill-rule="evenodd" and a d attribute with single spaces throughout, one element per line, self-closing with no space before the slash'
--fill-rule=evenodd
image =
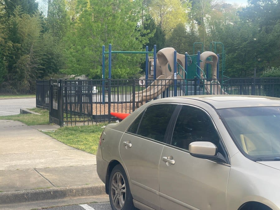
<path id="1" fill-rule="evenodd" d="M 218 110 L 243 153 L 255 161 L 280 160 L 280 107 Z"/>

